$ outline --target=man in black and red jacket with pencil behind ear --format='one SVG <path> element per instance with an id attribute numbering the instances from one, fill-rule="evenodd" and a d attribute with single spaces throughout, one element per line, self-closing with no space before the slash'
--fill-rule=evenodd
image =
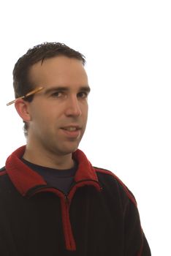
<path id="1" fill-rule="evenodd" d="M 77 149 L 88 116 L 85 62 L 53 42 L 15 64 L 27 142 L 0 172 L 1 256 L 151 255 L 132 193 Z"/>

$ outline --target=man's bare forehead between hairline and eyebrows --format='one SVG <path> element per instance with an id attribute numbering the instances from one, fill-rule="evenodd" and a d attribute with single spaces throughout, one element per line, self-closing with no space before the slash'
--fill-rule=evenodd
<path id="1" fill-rule="evenodd" d="M 86 70 L 80 60 L 57 56 L 39 61 L 29 69 L 29 80 L 35 86 L 85 86 Z"/>

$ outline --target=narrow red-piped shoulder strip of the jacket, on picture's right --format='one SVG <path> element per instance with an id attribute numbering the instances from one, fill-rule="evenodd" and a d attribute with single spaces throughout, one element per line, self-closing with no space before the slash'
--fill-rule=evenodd
<path id="1" fill-rule="evenodd" d="M 126 185 L 123 183 L 123 181 L 121 181 L 121 179 L 118 178 L 118 176 L 116 176 L 110 170 L 106 170 L 103 168 L 94 167 L 94 170 L 96 171 L 97 176 L 102 176 L 102 180 L 107 179 L 107 178 L 113 179 L 118 184 L 118 186 L 123 189 L 123 191 L 126 193 L 126 196 L 129 197 L 129 199 L 132 201 L 132 203 L 134 203 L 134 205 L 137 207 L 137 201 L 135 200 L 134 195 L 128 189 L 128 187 L 126 187 Z"/>

